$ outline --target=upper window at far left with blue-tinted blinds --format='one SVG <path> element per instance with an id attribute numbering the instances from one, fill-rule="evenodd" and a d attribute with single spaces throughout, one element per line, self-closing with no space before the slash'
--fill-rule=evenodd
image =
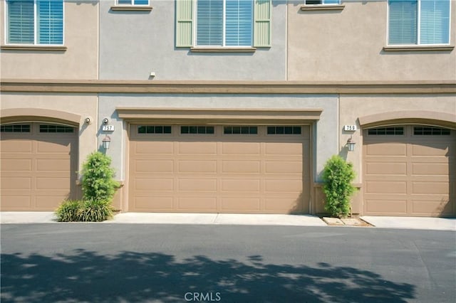
<path id="1" fill-rule="evenodd" d="M 63 44 L 63 0 L 6 0 L 6 43 Z"/>

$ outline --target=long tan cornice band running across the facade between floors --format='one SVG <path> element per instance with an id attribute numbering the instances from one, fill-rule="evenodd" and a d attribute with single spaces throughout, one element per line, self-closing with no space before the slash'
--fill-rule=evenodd
<path id="1" fill-rule="evenodd" d="M 2 92 L 185 94 L 415 94 L 456 93 L 456 81 L 301 82 L 165 80 L 1 80 Z"/>

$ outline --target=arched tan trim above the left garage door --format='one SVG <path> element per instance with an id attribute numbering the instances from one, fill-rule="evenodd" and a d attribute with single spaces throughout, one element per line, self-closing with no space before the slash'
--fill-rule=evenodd
<path id="1" fill-rule="evenodd" d="M 55 122 L 79 127 L 81 115 L 43 108 L 9 108 L 0 110 L 1 124 L 14 122 Z"/>

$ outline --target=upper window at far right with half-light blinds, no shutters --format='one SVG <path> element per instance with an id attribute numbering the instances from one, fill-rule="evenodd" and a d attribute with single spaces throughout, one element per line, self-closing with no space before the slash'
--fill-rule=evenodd
<path id="1" fill-rule="evenodd" d="M 388 44 L 450 43 L 450 0 L 388 0 Z"/>

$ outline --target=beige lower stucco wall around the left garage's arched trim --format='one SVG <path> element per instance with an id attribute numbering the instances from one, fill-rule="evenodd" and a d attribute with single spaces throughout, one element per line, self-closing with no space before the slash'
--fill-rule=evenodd
<path id="1" fill-rule="evenodd" d="M 1 110 L 36 108 L 67 112 L 81 116 L 79 122 L 79 155 L 78 167 L 86 160 L 97 146 L 98 97 L 96 95 L 63 95 L 63 94 L 31 94 L 2 93 Z M 86 117 L 92 117 L 93 123 L 84 123 Z"/>

